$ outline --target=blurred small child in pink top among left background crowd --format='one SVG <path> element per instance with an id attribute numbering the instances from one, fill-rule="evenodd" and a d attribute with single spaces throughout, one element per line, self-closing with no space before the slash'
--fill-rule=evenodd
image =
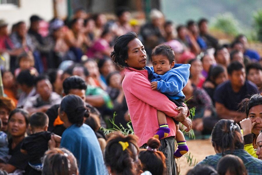
<path id="1" fill-rule="evenodd" d="M 15 77 L 17 77 L 18 74 L 23 70 L 30 70 L 33 74 L 36 74 L 36 76 L 38 76 L 38 71 L 36 70 L 36 68 L 34 68 L 35 62 L 33 54 L 31 52 L 25 52 L 19 55 L 18 64 L 19 68 L 15 69 Z"/>

